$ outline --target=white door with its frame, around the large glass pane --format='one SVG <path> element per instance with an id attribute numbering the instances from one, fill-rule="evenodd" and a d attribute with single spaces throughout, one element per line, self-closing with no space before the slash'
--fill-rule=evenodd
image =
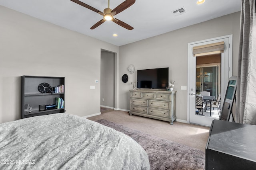
<path id="1" fill-rule="evenodd" d="M 210 126 L 212 120 L 216 119 L 196 115 L 196 57 L 193 55 L 193 47 L 222 41 L 224 53 L 221 54 L 221 96 L 225 96 L 228 78 L 232 76 L 232 35 L 188 43 L 188 123 Z"/>

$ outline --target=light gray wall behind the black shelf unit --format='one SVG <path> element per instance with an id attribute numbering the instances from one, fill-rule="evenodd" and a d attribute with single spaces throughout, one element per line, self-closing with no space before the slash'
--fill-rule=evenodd
<path id="1" fill-rule="evenodd" d="M 3 6 L 0 23 L 0 123 L 20 119 L 22 75 L 64 76 L 66 112 L 100 113 L 101 49 L 117 46 Z"/>

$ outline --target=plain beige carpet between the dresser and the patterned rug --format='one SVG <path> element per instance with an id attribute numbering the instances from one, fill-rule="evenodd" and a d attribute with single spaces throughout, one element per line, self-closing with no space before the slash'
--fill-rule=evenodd
<path id="1" fill-rule="evenodd" d="M 173 125 L 169 125 L 167 121 L 160 121 L 136 115 L 130 116 L 126 111 L 110 111 L 102 113 L 101 115 L 88 117 L 88 119 L 93 121 L 100 119 L 112 121 L 168 141 L 200 149 L 203 152 L 205 152 L 206 142 L 209 136 L 209 127 L 180 122 L 174 122 Z"/>

